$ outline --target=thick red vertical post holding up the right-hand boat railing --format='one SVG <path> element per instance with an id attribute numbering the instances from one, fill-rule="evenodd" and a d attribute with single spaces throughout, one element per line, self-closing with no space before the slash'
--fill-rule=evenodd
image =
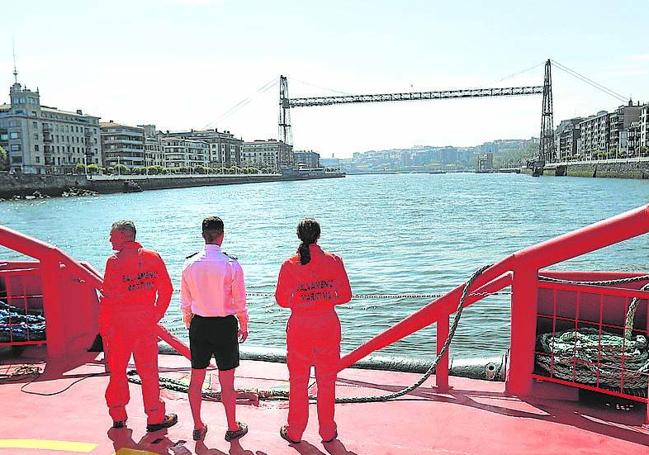
<path id="1" fill-rule="evenodd" d="M 529 395 L 534 370 L 538 270 L 529 261 L 514 269 L 511 300 L 511 341 L 505 389 L 517 396 Z"/>

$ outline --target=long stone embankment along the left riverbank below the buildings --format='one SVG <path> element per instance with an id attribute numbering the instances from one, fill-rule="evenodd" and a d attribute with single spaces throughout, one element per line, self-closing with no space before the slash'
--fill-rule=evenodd
<path id="1" fill-rule="evenodd" d="M 344 177 L 340 173 L 321 175 L 217 175 L 217 176 L 88 176 L 85 175 L 8 175 L 0 174 L 1 199 L 33 199 L 38 197 L 60 197 L 88 195 L 93 193 L 132 193 L 137 191 L 196 186 L 235 185 L 244 183 L 281 182 Z"/>

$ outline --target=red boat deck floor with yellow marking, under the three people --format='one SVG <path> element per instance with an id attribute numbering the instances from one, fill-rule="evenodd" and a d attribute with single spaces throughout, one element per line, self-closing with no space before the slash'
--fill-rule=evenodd
<path id="1" fill-rule="evenodd" d="M 45 367 L 43 348 L 22 356 L 0 353 L 0 374 L 27 364 Z M 337 405 L 339 439 L 323 444 L 317 432 L 315 405 L 302 443 L 289 446 L 279 436 L 287 402 L 241 400 L 237 418 L 250 432 L 238 442 L 223 439 L 225 418 L 220 403 L 205 402 L 209 426 L 204 443 L 191 440 L 193 429 L 187 396 L 163 390 L 167 411 L 179 416 L 168 432 L 145 432 L 139 386 L 131 384 L 126 429 L 110 429 L 104 402 L 108 375 L 103 354 L 89 354 L 77 366 L 47 365 L 44 373 L 0 381 L 0 454 L 629 454 L 647 453 L 649 430 L 642 427 L 644 405 L 616 406 L 600 396 L 588 405 L 565 400 L 530 401 L 507 396 L 504 383 L 450 378 L 451 390 L 437 392 L 434 382 L 386 403 Z M 188 361 L 161 355 L 161 376 L 187 377 Z M 54 393 L 85 378 L 69 390 Z M 209 373 L 208 373 L 209 374 Z M 418 374 L 346 369 L 339 375 L 339 396 L 377 395 L 415 382 Z M 34 379 L 35 378 L 35 379 Z M 217 376 L 214 374 L 214 381 Z M 33 380 L 33 382 L 29 382 Z M 432 381 L 432 380 L 431 380 Z M 238 389 L 288 388 L 284 364 L 244 361 L 237 370 Z M 608 404 L 607 404 L 608 401 Z M 143 452 L 141 452 L 143 451 Z"/>

